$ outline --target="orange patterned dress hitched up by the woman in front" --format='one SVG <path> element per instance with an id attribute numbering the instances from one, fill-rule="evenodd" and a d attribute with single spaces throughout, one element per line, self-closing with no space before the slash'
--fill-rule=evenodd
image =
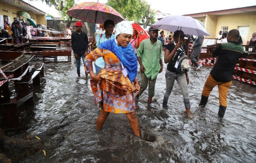
<path id="1" fill-rule="evenodd" d="M 105 67 L 100 70 L 99 82 L 90 81 L 94 102 L 103 102 L 103 110 L 112 113 L 129 113 L 136 108 L 133 91 L 135 86 L 122 73 L 118 57 L 109 50 L 96 48 L 85 57 L 86 71 L 92 71 L 92 62 L 102 57 Z"/>

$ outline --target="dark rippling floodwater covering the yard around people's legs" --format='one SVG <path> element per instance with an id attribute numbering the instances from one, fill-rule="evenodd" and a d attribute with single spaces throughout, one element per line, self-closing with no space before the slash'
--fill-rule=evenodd
<path id="1" fill-rule="evenodd" d="M 34 59 L 35 61 L 35 59 Z M 90 78 L 77 77 L 72 56 L 69 63 L 46 63 L 40 90 L 34 91 L 35 121 L 25 135 L 40 135 L 61 126 L 45 138 L 46 151 L 26 156 L 22 162 L 55 163 L 168 163 L 256 162 L 256 87 L 233 80 L 228 107 L 218 118 L 218 88 L 205 108 L 198 107 L 201 92 L 212 67 L 189 71 L 192 119 L 185 114 L 182 94 L 175 81 L 163 109 L 165 70 L 157 76 L 153 103 L 147 90 L 137 100 L 142 139 L 133 135 L 125 114 L 110 114 L 102 130 L 95 129 L 99 107 L 94 104 Z M 139 70 L 139 68 L 138 68 Z M 138 73 L 140 81 L 140 73 Z M 23 135 L 24 135 L 23 134 Z M 44 138 L 41 138 L 44 139 Z M 22 151 L 21 151 L 22 152 Z"/>

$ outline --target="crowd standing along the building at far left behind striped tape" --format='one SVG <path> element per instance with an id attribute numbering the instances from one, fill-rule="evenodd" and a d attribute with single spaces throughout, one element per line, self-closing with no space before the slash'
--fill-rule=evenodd
<path id="1" fill-rule="evenodd" d="M 20 22 L 18 19 L 15 19 L 12 24 L 8 22 L 7 19 L 4 20 L 4 29 L 0 32 L 1 38 L 14 38 L 15 44 L 22 43 L 22 38 L 25 42 L 28 42 L 32 37 L 50 37 L 50 32 L 44 31 L 40 25 L 35 28 L 32 25 L 25 23 L 23 20 Z M 48 29 L 48 27 L 47 27 Z"/>

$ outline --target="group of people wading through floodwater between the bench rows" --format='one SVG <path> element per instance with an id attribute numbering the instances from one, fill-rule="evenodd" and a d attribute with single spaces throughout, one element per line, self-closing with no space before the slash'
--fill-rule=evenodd
<path id="1" fill-rule="evenodd" d="M 80 76 L 80 62 L 84 58 L 86 76 L 90 74 L 90 84 L 94 95 L 95 104 L 99 104 L 100 115 L 96 122 L 96 129 L 101 129 L 110 112 L 125 113 L 130 122 L 134 134 L 140 136 L 138 119 L 135 114 L 135 99 L 148 87 L 148 100 L 150 104 L 154 97 L 157 75 L 163 71 L 164 63 L 168 64 L 165 73 L 166 92 L 164 93 L 163 107 L 168 108 L 170 97 L 175 80 L 181 89 L 183 102 L 188 117 L 190 115 L 189 98 L 189 39 L 183 31 L 175 31 L 168 37 L 170 43 L 164 47 L 163 32 L 159 38 L 160 31 L 154 26 L 149 28 L 149 39 L 138 41 L 140 34 L 132 28 L 131 22 L 124 20 L 116 25 L 116 33 L 113 34 L 115 24 L 112 20 L 106 20 L 101 24 L 101 31 L 98 31 L 91 40 L 93 50 L 88 51 L 88 38 L 81 30 L 82 24 L 76 23 L 76 32 L 71 35 L 71 44 L 74 56 L 77 60 L 77 73 Z M 223 39 L 222 39 L 223 38 Z M 254 39 L 253 39 L 254 38 Z M 253 37 L 255 42 L 255 34 Z M 203 36 L 191 36 L 194 43 L 190 59 L 196 65 L 198 55 L 202 48 Z M 218 38 L 217 38 L 218 39 Z M 223 33 L 221 39 L 223 44 L 213 51 L 213 56 L 218 56 L 213 70 L 209 74 L 199 103 L 204 107 L 207 104 L 211 90 L 218 85 L 219 90 L 219 112 L 218 116 L 223 117 L 227 108 L 227 93 L 232 83 L 234 67 L 243 53 L 239 42 L 240 34 L 237 29 L 232 29 L 227 34 Z M 225 44 L 224 44 L 225 41 Z M 93 71 L 93 62 L 96 72 Z M 136 79 L 137 66 L 140 65 L 141 83 Z M 136 93 L 136 96 L 133 95 Z"/>

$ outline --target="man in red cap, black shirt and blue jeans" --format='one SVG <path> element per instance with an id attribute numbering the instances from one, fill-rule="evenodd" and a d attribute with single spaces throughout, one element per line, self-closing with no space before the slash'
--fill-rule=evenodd
<path id="1" fill-rule="evenodd" d="M 81 58 L 83 60 L 83 65 L 85 66 L 85 56 L 88 54 L 88 37 L 87 34 L 82 31 L 83 24 L 81 22 L 76 22 L 76 32 L 71 34 L 71 46 L 76 58 L 76 71 L 78 77 L 80 77 L 80 65 Z M 88 73 L 85 74 L 88 77 Z"/>

